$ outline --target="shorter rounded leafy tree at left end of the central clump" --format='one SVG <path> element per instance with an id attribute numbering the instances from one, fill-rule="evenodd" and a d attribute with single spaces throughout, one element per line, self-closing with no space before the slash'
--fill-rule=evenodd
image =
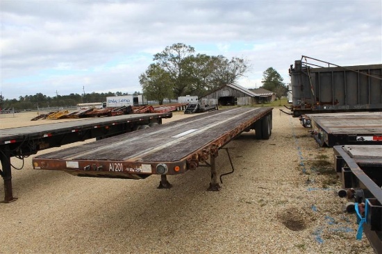
<path id="1" fill-rule="evenodd" d="M 148 100 L 156 100 L 160 105 L 164 99 L 173 96 L 171 77 L 159 64 L 151 64 L 146 72 L 140 74 L 140 85 Z"/>

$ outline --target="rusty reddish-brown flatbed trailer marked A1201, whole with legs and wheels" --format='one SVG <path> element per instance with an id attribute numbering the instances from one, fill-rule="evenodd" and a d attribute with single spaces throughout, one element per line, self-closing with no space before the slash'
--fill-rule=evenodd
<path id="1" fill-rule="evenodd" d="M 167 175 L 207 166 L 211 171 L 208 189 L 219 190 L 215 169 L 219 149 L 251 129 L 256 130 L 256 137 L 269 139 L 272 108 L 206 112 L 138 133 L 38 155 L 33 158 L 33 168 L 106 178 L 143 179 L 156 174 L 160 175 L 159 188 L 169 188 Z"/>

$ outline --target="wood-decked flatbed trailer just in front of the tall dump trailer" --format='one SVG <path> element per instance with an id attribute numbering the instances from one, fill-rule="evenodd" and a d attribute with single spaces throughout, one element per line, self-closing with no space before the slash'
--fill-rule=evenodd
<path id="1" fill-rule="evenodd" d="M 308 114 L 320 146 L 382 144 L 382 112 Z"/>

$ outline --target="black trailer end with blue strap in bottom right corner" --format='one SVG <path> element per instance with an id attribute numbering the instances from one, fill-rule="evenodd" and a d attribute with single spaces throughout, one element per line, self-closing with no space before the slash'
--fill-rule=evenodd
<path id="1" fill-rule="evenodd" d="M 334 146 L 335 170 L 342 187 L 339 196 L 349 201 L 363 232 L 376 253 L 382 253 L 382 145 Z M 358 232 L 358 239 L 362 237 Z"/>

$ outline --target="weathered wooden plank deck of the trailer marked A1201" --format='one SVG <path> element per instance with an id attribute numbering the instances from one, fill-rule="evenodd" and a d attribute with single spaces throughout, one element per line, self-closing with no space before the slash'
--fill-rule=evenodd
<path id="1" fill-rule="evenodd" d="M 218 110 L 72 149 L 39 155 L 55 160 L 178 161 L 269 108 Z"/>

